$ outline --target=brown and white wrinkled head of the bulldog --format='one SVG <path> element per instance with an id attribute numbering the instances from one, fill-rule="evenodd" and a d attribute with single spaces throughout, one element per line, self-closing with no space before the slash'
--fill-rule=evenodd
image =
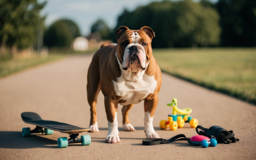
<path id="1" fill-rule="evenodd" d="M 123 70 L 131 70 L 133 73 L 145 70 L 152 55 L 151 41 L 155 37 L 150 27 L 142 27 L 140 30 L 130 30 L 121 26 L 116 31 L 117 58 Z"/>

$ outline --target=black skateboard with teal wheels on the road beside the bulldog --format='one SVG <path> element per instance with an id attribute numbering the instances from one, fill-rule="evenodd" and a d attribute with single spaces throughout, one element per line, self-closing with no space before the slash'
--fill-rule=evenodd
<path id="1" fill-rule="evenodd" d="M 58 138 L 57 143 L 59 148 L 66 148 L 70 143 L 82 143 L 83 146 L 91 144 L 91 137 L 88 134 L 81 135 L 81 139 L 77 138 L 79 133 L 87 132 L 91 129 L 81 128 L 67 123 L 46 121 L 33 112 L 24 112 L 21 114 L 21 118 L 25 123 L 36 125 L 34 130 L 30 130 L 29 127 L 23 128 L 23 137 L 28 137 L 31 133 L 45 133 L 46 135 L 51 135 L 53 134 L 53 131 L 58 131 L 61 133 L 68 133 L 70 137 L 70 139 L 67 139 L 67 137 Z"/>

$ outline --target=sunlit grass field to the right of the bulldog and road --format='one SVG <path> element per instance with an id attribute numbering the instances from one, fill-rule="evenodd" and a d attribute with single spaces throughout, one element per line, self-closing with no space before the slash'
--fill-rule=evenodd
<path id="1" fill-rule="evenodd" d="M 256 103 L 256 49 L 155 49 L 162 71 Z"/>

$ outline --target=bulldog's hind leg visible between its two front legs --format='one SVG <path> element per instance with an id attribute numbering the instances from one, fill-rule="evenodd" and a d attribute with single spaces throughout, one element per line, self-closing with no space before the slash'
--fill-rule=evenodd
<path id="1" fill-rule="evenodd" d="M 122 108 L 122 114 L 123 114 L 123 127 L 124 131 L 135 131 L 134 127 L 131 125 L 129 121 L 129 110 L 132 108 L 133 104 L 123 106 Z"/>

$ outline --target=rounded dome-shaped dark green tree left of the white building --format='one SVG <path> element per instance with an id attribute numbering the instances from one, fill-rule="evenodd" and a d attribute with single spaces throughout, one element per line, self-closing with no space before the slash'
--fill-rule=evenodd
<path id="1" fill-rule="evenodd" d="M 80 30 L 74 21 L 57 20 L 46 29 L 44 44 L 48 47 L 69 47 L 78 36 L 81 36 Z"/>

